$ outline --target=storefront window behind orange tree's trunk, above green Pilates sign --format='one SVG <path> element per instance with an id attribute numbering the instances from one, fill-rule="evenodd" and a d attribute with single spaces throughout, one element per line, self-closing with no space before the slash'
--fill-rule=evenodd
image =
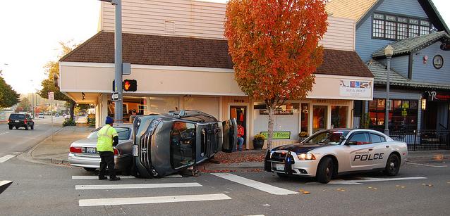
<path id="1" fill-rule="evenodd" d="M 263 102 L 255 102 L 253 106 L 255 112 L 255 127 L 253 130 L 253 134 L 251 135 L 259 134 L 261 132 L 267 132 L 269 110 L 267 110 L 266 105 Z M 305 112 L 308 112 L 308 109 L 306 109 Z M 308 116 L 306 117 L 306 120 L 307 119 Z M 274 132 L 288 132 L 287 134 L 290 134 L 289 139 L 298 139 L 299 120 L 300 103 L 284 103 L 283 106 L 279 107 L 275 111 Z M 276 139 L 276 137 L 274 137 L 274 139 Z"/>

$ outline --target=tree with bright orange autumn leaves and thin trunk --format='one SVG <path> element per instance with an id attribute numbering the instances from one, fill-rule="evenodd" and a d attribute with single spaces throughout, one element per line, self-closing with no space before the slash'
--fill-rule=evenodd
<path id="1" fill-rule="evenodd" d="M 225 37 L 234 79 L 250 99 L 269 110 L 267 148 L 274 111 L 286 100 L 304 99 L 322 63 L 319 40 L 327 31 L 323 0 L 230 0 Z"/>

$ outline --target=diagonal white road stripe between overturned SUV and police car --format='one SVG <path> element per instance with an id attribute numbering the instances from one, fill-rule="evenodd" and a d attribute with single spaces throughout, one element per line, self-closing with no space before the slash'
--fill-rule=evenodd
<path id="1" fill-rule="evenodd" d="M 217 177 L 228 179 L 231 182 L 236 182 L 236 183 L 239 183 L 239 184 L 243 184 L 245 186 L 250 186 L 250 187 L 253 187 L 254 189 L 258 189 L 260 191 L 264 191 L 264 192 L 267 192 L 267 193 L 272 193 L 272 194 L 275 194 L 275 195 L 288 195 L 288 194 L 298 193 L 296 191 L 289 191 L 289 190 L 286 190 L 286 189 L 279 188 L 277 186 L 272 186 L 270 184 L 257 182 L 257 181 L 252 180 L 252 179 L 246 179 L 246 178 L 240 177 L 240 176 L 238 176 L 236 174 L 229 174 L 229 173 L 212 173 L 212 174 L 214 174 Z"/>

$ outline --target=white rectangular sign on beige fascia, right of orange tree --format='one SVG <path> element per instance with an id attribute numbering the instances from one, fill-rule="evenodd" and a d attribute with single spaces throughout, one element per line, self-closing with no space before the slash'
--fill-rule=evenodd
<path id="1" fill-rule="evenodd" d="M 372 95 L 372 82 L 355 80 L 341 80 L 341 96 L 370 97 Z"/>

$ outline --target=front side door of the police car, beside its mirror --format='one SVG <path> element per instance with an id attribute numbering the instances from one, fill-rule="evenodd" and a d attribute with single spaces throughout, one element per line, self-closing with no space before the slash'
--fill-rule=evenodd
<path id="1" fill-rule="evenodd" d="M 373 144 L 370 143 L 369 133 L 356 132 L 346 141 L 346 152 L 350 160 L 346 171 L 372 170 Z"/>

